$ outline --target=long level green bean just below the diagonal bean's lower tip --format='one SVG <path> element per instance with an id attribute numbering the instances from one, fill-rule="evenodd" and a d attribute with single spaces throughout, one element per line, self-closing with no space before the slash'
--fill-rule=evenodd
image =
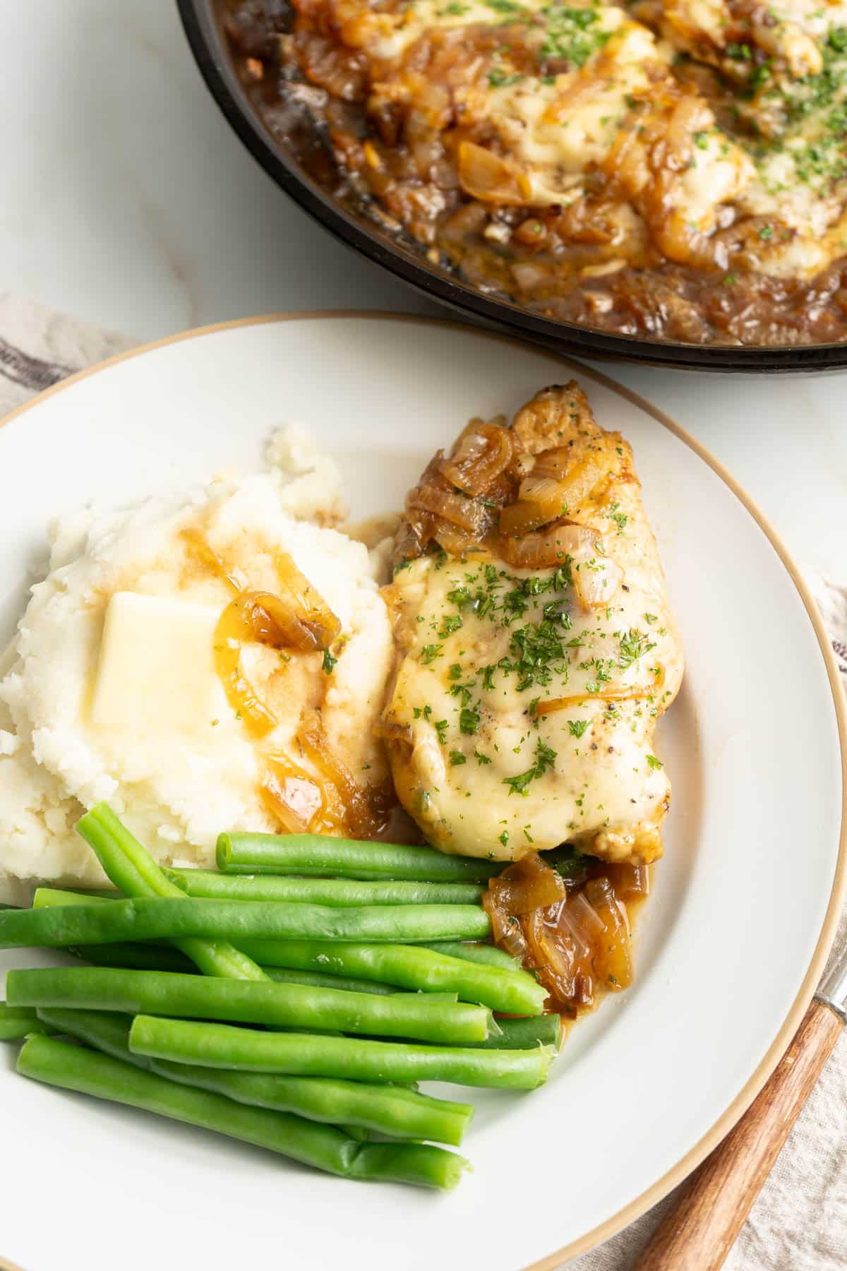
<path id="1" fill-rule="evenodd" d="M 128 1014 L 188 1016 L 237 1023 L 329 1028 L 462 1045 L 484 1041 L 498 1026 L 490 1010 L 464 1002 L 427 1002 L 425 994 L 380 996 L 302 984 L 223 980 L 114 967 L 39 967 L 9 971 L 13 1007 L 84 1007 Z"/>

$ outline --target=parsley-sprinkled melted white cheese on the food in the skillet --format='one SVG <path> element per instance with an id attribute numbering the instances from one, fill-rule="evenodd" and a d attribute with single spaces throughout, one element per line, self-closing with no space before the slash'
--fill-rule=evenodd
<path id="1" fill-rule="evenodd" d="M 706 235 L 731 220 L 723 208 L 733 205 L 742 215 L 770 217 L 749 247 L 754 266 L 777 276 L 814 275 L 842 255 L 847 241 L 847 127 L 838 113 L 847 66 L 832 43 L 844 31 L 847 5 L 784 0 L 766 18 L 748 20 L 749 44 L 733 42 L 740 19 L 721 0 L 668 3 L 660 14 L 664 38 L 617 5 L 413 0 L 396 13 L 372 17 L 367 51 L 381 64 L 385 88 L 429 32 L 502 27 L 504 44 L 495 60 L 451 92 L 465 121 L 494 130 L 495 153 L 518 174 L 516 193 L 500 201 L 527 207 L 568 206 L 585 193 L 587 178 L 602 168 L 620 130 L 637 130 L 634 112 L 655 97 L 663 80 L 672 81 L 679 48 L 728 67 L 730 76 L 738 72 L 743 112 L 758 121 L 759 136 L 735 141 L 704 102 L 697 131 L 681 144 L 679 177 L 665 206 L 681 224 Z M 521 39 L 535 51 L 540 74 L 527 74 L 526 66 L 516 70 L 512 27 L 522 28 Z M 748 48 L 757 50 L 758 61 Z M 541 74 L 541 64 L 559 53 L 570 69 Z M 749 79 L 752 67 L 761 83 Z M 632 189 L 626 194 L 636 220 L 621 210 L 617 257 L 637 255 L 637 216 L 649 217 L 644 200 Z M 662 245 L 683 259 L 684 248 L 674 255 Z"/>

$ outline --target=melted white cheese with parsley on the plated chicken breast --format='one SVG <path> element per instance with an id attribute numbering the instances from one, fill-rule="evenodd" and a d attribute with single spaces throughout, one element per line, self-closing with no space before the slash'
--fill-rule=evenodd
<path id="1" fill-rule="evenodd" d="M 574 470 L 607 436 L 575 385 L 540 394 L 516 431 L 527 412 L 537 449 L 569 447 Z M 555 426 L 540 444 L 537 418 Z M 573 841 L 610 860 L 660 855 L 670 787 L 653 732 L 682 653 L 630 450 L 613 440 L 617 468 L 569 512 L 592 529 L 579 559 L 527 569 L 486 549 L 438 553 L 395 576 L 392 774 L 444 852 L 509 860 Z M 598 574 L 607 599 L 587 608 Z"/>

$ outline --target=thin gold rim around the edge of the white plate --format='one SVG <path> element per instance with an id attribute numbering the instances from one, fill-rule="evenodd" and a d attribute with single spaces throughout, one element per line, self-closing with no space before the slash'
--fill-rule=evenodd
<path id="1" fill-rule="evenodd" d="M 109 366 L 117 366 L 118 362 L 127 361 L 130 357 L 138 357 L 154 348 L 164 348 L 168 344 L 178 344 L 184 339 L 194 339 L 198 336 L 211 336 L 215 332 L 231 330 L 236 327 L 259 327 L 267 323 L 282 322 L 325 322 L 328 319 L 334 322 L 368 319 L 378 322 L 419 323 L 428 327 L 447 327 L 452 330 L 467 332 L 483 339 L 498 341 L 499 343 L 510 344 L 516 348 L 532 348 L 532 346 L 528 346 L 523 341 L 516 339 L 514 337 L 483 330 L 476 327 L 470 327 L 466 323 L 451 322 L 446 318 L 423 318 L 417 314 L 395 314 L 378 309 L 325 309 L 315 311 L 263 314 L 258 318 L 237 318 L 231 322 L 213 323 L 208 327 L 196 327 L 193 330 L 179 332 L 177 336 L 166 336 L 164 339 L 156 339 L 149 344 L 138 344 L 136 348 L 131 348 L 126 353 L 117 353 L 114 357 L 109 357 L 104 362 L 98 362 L 95 366 L 90 366 L 84 371 L 77 371 L 76 375 L 71 375 L 66 380 L 61 380 L 52 388 L 39 393 L 38 397 L 32 398 L 29 402 L 25 402 L 24 405 L 18 407 L 8 414 L 5 419 L 0 419 L 0 427 L 9 423 L 11 419 L 17 419 L 19 416 L 25 414 L 27 411 L 32 411 L 33 407 L 39 405 L 43 400 L 46 400 L 46 398 L 72 388 L 89 375 L 97 375 L 99 371 L 103 371 Z M 544 350 L 536 350 L 536 352 L 544 352 Z M 610 379 L 608 375 L 594 371 L 589 366 L 584 366 L 575 358 L 561 357 L 560 362 L 563 367 L 566 367 L 585 379 L 593 380 L 596 384 L 602 384 L 603 388 L 611 389 L 612 393 L 616 393 L 618 397 L 631 402 L 632 405 L 644 411 L 653 419 L 655 419 L 657 423 L 662 425 L 663 428 L 672 432 L 674 437 L 678 437 L 679 441 L 688 446 L 690 450 L 693 450 L 693 452 L 698 455 L 700 459 L 702 459 L 704 463 L 717 474 L 717 477 L 720 477 L 724 484 L 729 487 L 733 494 L 735 494 L 739 502 L 747 508 L 771 543 L 776 554 L 780 557 L 789 577 L 800 594 L 800 599 L 803 600 L 809 620 L 814 628 L 818 644 L 820 646 L 820 653 L 827 666 L 829 688 L 832 690 L 833 705 L 836 708 L 836 718 L 838 721 L 842 807 L 838 860 L 836 863 L 836 874 L 833 878 L 832 892 L 829 895 L 829 904 L 827 905 L 827 913 L 820 928 L 820 935 L 818 937 L 815 951 L 803 979 L 803 984 L 800 985 L 800 991 L 794 999 L 794 1004 L 791 1005 L 791 1009 L 784 1019 L 782 1026 L 768 1047 L 764 1057 L 753 1071 L 753 1075 L 749 1078 L 743 1089 L 735 1096 L 729 1107 L 721 1113 L 717 1121 L 715 1121 L 712 1127 L 700 1139 L 698 1143 L 695 1144 L 693 1148 L 686 1153 L 681 1160 L 677 1162 L 676 1166 L 673 1166 L 672 1169 L 663 1174 L 662 1178 L 657 1179 L 657 1182 L 648 1187 L 646 1191 L 641 1192 L 640 1196 L 630 1201 L 629 1205 L 625 1205 L 624 1209 L 618 1210 L 618 1213 L 612 1215 L 612 1218 L 606 1219 L 604 1223 L 601 1223 L 590 1232 L 587 1232 L 584 1235 L 571 1240 L 570 1244 L 566 1244 L 560 1249 L 555 1249 L 546 1257 L 527 1265 L 522 1268 L 522 1271 L 556 1271 L 556 1267 L 560 1267 L 563 1262 L 575 1258 L 578 1254 L 592 1249 L 596 1244 L 601 1244 L 603 1240 L 610 1239 L 610 1237 L 615 1235 L 624 1227 L 627 1227 L 636 1218 L 640 1218 L 640 1215 L 648 1209 L 651 1209 L 653 1205 L 658 1204 L 658 1201 L 667 1196 L 669 1191 L 683 1181 L 683 1178 L 687 1178 L 687 1176 L 709 1155 L 712 1148 L 716 1148 L 721 1139 L 729 1134 L 735 1122 L 743 1116 L 756 1096 L 759 1093 L 780 1059 L 787 1050 L 795 1032 L 800 1027 L 800 1021 L 803 1019 L 818 986 L 818 981 L 823 975 L 827 956 L 836 937 L 838 916 L 844 901 L 844 891 L 847 890 L 847 698 L 844 698 L 842 690 L 841 675 L 832 651 L 832 644 L 829 643 L 829 637 L 827 636 L 823 625 L 823 619 L 800 571 L 794 563 L 787 548 L 782 543 L 782 539 L 776 533 L 768 519 L 759 511 L 749 494 L 738 484 L 735 478 L 726 470 L 720 460 L 716 459 L 704 445 L 701 445 L 700 441 L 686 432 L 686 430 L 672 419 L 670 416 L 659 411 L 658 407 L 653 405 L 637 393 L 634 393 L 631 389 L 618 384 L 617 380 Z M 4 1262 L 4 1260 L 0 1258 L 0 1271 L 19 1271 L 19 1268 L 14 1267 L 11 1263 Z"/>

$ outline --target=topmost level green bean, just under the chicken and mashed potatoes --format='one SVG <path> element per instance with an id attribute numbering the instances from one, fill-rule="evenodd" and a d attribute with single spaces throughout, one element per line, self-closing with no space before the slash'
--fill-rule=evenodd
<path id="1" fill-rule="evenodd" d="M 488 860 L 320 834 L 221 834 L 217 868 L 225 873 L 337 874 L 410 882 L 488 883 L 491 874 Z"/>

